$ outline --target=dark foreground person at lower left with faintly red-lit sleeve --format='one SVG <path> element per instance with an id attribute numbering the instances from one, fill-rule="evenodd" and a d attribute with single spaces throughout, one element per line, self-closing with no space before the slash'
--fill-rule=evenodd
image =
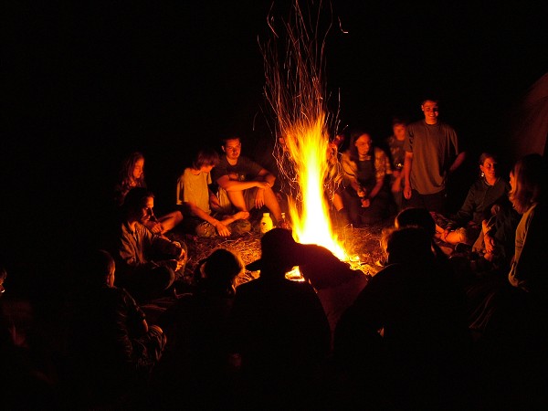
<path id="1" fill-rule="evenodd" d="M 73 406 L 113 406 L 143 395 L 166 342 L 132 296 L 114 286 L 114 259 L 96 250 L 82 262 L 68 333 Z"/>

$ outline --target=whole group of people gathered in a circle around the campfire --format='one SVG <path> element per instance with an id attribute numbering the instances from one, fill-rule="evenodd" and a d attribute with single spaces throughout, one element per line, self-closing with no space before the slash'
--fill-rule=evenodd
<path id="1" fill-rule="evenodd" d="M 342 153 L 342 135 L 328 145 L 333 227 L 386 223 L 374 275 L 295 240 L 282 220 L 294 176 L 241 155 L 237 136 L 223 140 L 222 153 L 195 153 L 161 216 L 144 156 L 129 155 L 115 189 L 117 222 L 100 249 L 81 256 L 67 301 L 60 388 L 40 400 L 85 409 L 548 404 L 545 159 L 523 156 L 507 180 L 497 156 L 482 153 L 479 178 L 448 214 L 448 178 L 466 152 L 438 120 L 437 100 L 421 109 L 420 121 L 395 119 L 385 148 L 364 130 Z M 195 257 L 186 242 L 245 235 L 263 211 L 275 227 L 261 235 L 259 258 L 246 264 L 217 246 L 184 287 Z M 295 267 L 300 281 L 286 276 Z M 2 292 L 6 275 L 0 270 Z M 166 300 L 161 314 L 149 313 Z M 2 352 L 13 353 L 2 327 Z M 36 384 L 14 358 L 2 374 Z"/>

